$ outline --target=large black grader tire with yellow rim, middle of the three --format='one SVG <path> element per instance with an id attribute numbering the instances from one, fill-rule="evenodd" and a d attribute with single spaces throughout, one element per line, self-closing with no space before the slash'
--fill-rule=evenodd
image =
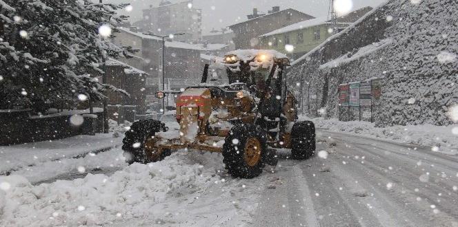
<path id="1" fill-rule="evenodd" d="M 232 177 L 253 178 L 264 168 L 266 134 L 255 125 L 232 127 L 223 144 L 223 163 Z"/>

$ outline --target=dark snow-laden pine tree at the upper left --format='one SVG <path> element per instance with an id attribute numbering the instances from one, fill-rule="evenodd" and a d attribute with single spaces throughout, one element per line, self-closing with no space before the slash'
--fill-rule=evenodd
<path id="1" fill-rule="evenodd" d="M 126 56 L 99 35 L 102 25 L 117 32 L 126 5 L 90 0 L 0 0 L 0 109 L 72 106 L 79 94 L 106 98 L 115 89 L 90 76 L 103 59 Z"/>

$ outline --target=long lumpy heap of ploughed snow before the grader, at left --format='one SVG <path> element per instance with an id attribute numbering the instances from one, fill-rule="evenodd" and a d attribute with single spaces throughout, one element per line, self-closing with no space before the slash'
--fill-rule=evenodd
<path id="1" fill-rule="evenodd" d="M 164 162 L 132 164 L 110 177 L 88 174 L 39 186 L 19 175 L 0 177 L 0 184 L 8 184 L 0 190 L 0 226 L 98 226 L 158 218 L 162 210 L 152 209 L 155 204 L 214 185 L 221 160 L 219 154 L 174 153 Z"/>

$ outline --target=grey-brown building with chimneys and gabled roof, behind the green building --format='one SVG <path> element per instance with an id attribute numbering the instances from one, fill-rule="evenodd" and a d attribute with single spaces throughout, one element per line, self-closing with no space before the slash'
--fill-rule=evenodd
<path id="1" fill-rule="evenodd" d="M 247 17 L 248 21 L 229 26 L 234 31 L 235 37 L 232 40 L 235 49 L 259 48 L 259 36 L 262 34 L 315 18 L 293 9 L 280 10 L 279 6 L 273 7 L 268 14 L 261 14 L 255 8 L 253 14 Z"/>

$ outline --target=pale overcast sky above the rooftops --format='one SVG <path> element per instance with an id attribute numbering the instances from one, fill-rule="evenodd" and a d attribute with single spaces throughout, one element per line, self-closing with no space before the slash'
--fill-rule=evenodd
<path id="1" fill-rule="evenodd" d="M 183 0 L 170 0 L 172 3 Z M 353 10 L 364 6 L 378 6 L 386 0 L 352 0 Z M 141 10 L 150 5 L 159 6 L 160 0 L 103 0 L 103 3 L 130 3 L 132 12 L 123 11 L 130 16 L 130 21 L 138 21 L 142 17 Z M 223 28 L 237 22 L 246 21 L 246 15 L 252 8 L 267 12 L 272 6 L 280 9 L 293 8 L 314 17 L 328 15 L 329 0 L 194 0 L 194 7 L 202 9 L 202 30 L 207 34 L 212 28 Z"/>

